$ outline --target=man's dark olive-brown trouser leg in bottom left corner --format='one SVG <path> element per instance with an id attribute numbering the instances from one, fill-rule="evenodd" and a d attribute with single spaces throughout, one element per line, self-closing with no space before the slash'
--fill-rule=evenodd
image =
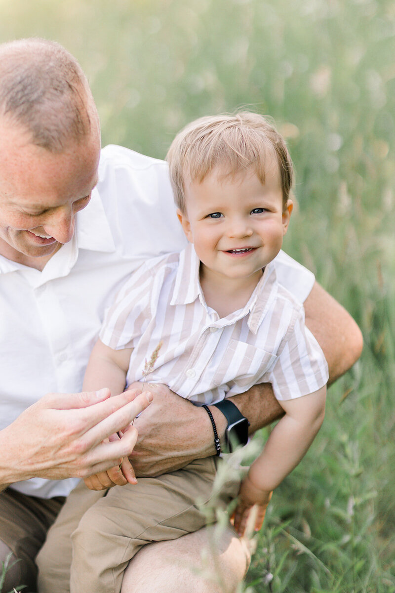
<path id="1" fill-rule="evenodd" d="M 26 496 L 12 488 L 0 492 L 0 550 L 4 556 L 0 561 L 5 562 L 11 550 L 14 563 L 7 570 L 2 591 L 21 585 L 26 585 L 26 593 L 37 591 L 36 554 L 64 501 L 63 497 Z"/>

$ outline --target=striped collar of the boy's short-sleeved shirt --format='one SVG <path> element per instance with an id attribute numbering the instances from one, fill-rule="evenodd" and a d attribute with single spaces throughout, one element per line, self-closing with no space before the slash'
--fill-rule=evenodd
<path id="1" fill-rule="evenodd" d="M 200 286 L 199 270 L 200 260 L 193 246 L 188 244 L 179 255 L 174 291 L 170 301 L 171 305 L 187 305 L 199 298 L 201 303 L 207 307 Z M 270 262 L 265 267 L 262 278 L 255 286 L 245 307 L 228 315 L 226 317 L 227 323 L 225 324 L 235 323 L 235 321 L 248 315 L 247 324 L 249 330 L 255 334 L 267 311 L 271 308 L 277 291 L 278 285 L 275 265 L 273 262 Z M 221 323 L 221 325 L 223 324 Z"/>

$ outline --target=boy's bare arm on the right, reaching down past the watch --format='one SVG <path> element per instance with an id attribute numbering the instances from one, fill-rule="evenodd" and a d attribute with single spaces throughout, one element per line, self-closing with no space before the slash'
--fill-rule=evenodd
<path id="1" fill-rule="evenodd" d="M 294 400 L 282 401 L 285 416 L 275 426 L 261 455 L 251 465 L 240 487 L 234 525 L 245 533 L 253 505 L 258 506 L 255 530 L 262 527 L 272 491 L 304 457 L 322 425 L 325 415 L 326 387 Z"/>

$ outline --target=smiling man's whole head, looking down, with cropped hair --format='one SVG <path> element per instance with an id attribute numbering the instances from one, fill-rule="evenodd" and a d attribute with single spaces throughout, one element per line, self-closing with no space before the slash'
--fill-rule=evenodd
<path id="1" fill-rule="evenodd" d="M 0 254 L 43 267 L 70 241 L 99 151 L 98 114 L 76 59 L 41 39 L 1 45 Z"/>

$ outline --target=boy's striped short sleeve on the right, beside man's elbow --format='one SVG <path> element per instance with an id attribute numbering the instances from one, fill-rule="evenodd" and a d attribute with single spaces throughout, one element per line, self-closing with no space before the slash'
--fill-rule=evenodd
<path id="1" fill-rule="evenodd" d="M 326 385 L 329 372 L 325 356 L 311 331 L 304 326 L 304 311 L 296 311 L 282 340 L 277 360 L 264 378 L 271 382 L 277 400 L 290 400 Z"/>

